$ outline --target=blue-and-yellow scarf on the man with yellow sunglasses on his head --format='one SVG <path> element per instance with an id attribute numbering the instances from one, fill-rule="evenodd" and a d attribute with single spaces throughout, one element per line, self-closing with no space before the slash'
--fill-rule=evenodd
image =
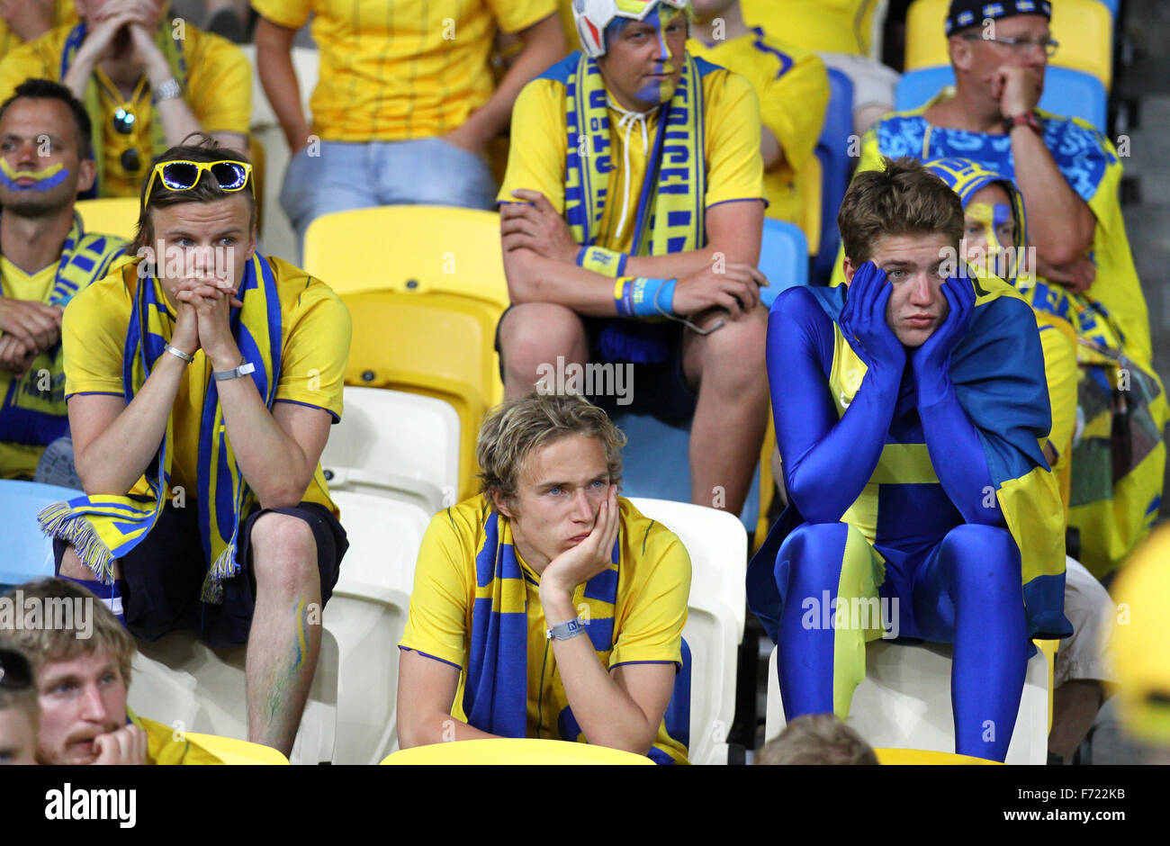
<path id="1" fill-rule="evenodd" d="M 128 283 L 137 275 L 138 262 L 123 269 Z M 233 309 L 232 335 L 243 360 L 256 370 L 252 378 L 271 410 L 281 370 L 281 310 L 276 276 L 268 260 L 259 253 L 249 262 L 240 290 L 242 309 Z M 123 386 L 126 405 L 142 390 L 151 370 L 170 342 L 173 324 L 160 286 L 151 277 L 138 281 L 123 358 Z M 58 502 L 39 515 L 41 529 L 66 541 L 78 558 L 105 584 L 113 582 L 113 559 L 137 546 L 154 527 L 170 495 L 171 461 L 174 445 L 174 417 L 167 420 L 158 453 L 146 468 L 150 496 L 78 496 Z M 200 600 L 220 603 L 223 582 L 240 566 L 235 560 L 240 521 L 249 488 L 236 465 L 223 425 L 215 381 L 207 386 L 199 434 L 199 528 L 208 570 Z"/>

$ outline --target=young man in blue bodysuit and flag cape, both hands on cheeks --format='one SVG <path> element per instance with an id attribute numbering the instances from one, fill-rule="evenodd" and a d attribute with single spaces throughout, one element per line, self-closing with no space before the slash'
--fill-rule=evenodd
<path id="1" fill-rule="evenodd" d="M 1044 357 L 1027 304 L 956 262 L 957 195 L 916 161 L 885 164 L 841 205 L 847 287 L 772 307 L 790 507 L 749 605 L 778 645 L 789 720 L 845 720 L 868 640 L 950 642 L 956 751 L 1003 761 L 1028 638 L 1071 632 Z"/>

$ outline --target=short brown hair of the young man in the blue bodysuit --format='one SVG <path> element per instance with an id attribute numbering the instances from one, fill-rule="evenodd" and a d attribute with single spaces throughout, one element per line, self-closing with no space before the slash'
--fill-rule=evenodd
<path id="1" fill-rule="evenodd" d="M 963 201 L 917 159 L 883 158 L 885 170 L 853 178 L 837 226 L 845 255 L 854 267 L 873 257 L 883 235 L 942 233 L 958 250 L 963 238 Z"/>

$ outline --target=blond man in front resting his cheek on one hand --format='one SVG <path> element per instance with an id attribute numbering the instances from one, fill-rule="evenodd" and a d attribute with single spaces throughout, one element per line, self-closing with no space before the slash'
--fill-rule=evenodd
<path id="1" fill-rule="evenodd" d="M 592 743 L 686 763 L 663 720 L 682 666 L 690 558 L 618 496 L 620 431 L 576 396 L 495 408 L 483 493 L 435 515 L 399 642 L 401 747 Z M 686 727 L 682 727 L 686 729 Z"/>

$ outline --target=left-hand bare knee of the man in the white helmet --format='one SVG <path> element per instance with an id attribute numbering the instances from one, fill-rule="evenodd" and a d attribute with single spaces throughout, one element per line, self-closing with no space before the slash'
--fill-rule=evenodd
<path id="1" fill-rule="evenodd" d="M 500 328 L 500 350 L 504 363 L 504 398 L 517 399 L 532 392 L 542 365 L 557 369 L 584 365 L 589 346 L 581 318 L 572 309 L 555 303 L 515 305 Z"/>

